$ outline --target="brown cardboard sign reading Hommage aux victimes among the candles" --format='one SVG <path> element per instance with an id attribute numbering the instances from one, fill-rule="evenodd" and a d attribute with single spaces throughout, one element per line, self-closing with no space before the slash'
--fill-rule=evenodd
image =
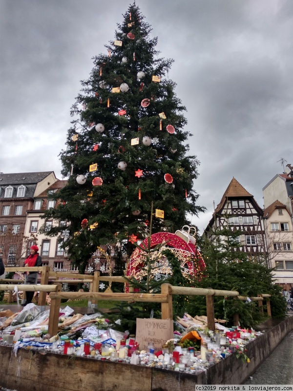
<path id="1" fill-rule="evenodd" d="M 140 350 L 146 349 L 149 342 L 154 344 L 156 350 L 161 350 L 171 338 L 173 338 L 172 320 L 136 318 L 135 340 Z"/>

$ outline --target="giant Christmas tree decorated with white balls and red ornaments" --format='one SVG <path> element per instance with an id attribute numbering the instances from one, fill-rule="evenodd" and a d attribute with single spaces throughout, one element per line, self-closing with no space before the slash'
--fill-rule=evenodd
<path id="1" fill-rule="evenodd" d="M 202 210 L 195 205 L 199 162 L 187 155 L 185 107 L 168 79 L 172 60 L 158 57 L 150 31 L 130 5 L 71 110 L 61 152 L 68 185 L 46 217 L 68 222 L 65 244 L 78 264 L 108 243 L 127 241 L 130 254 L 133 241 L 149 234 L 152 202 L 154 211 L 164 211 L 153 218 L 152 232 L 174 232 L 188 213 Z M 54 227 L 50 234 L 63 231 Z"/>

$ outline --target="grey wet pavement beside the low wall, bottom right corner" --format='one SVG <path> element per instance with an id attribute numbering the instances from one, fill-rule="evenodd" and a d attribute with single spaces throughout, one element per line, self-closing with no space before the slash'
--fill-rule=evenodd
<path id="1" fill-rule="evenodd" d="M 244 384 L 293 384 L 293 331 L 283 339 Z"/>

